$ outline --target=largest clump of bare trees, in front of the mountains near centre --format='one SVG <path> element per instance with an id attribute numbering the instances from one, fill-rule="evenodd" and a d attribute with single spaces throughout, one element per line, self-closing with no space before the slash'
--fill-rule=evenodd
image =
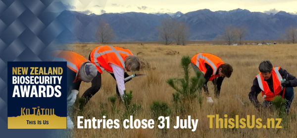
<path id="1" fill-rule="evenodd" d="M 176 45 L 186 45 L 189 38 L 189 27 L 184 22 L 178 22 L 176 19 L 165 18 L 160 20 L 157 26 L 159 38 L 166 45 L 175 42 Z"/>

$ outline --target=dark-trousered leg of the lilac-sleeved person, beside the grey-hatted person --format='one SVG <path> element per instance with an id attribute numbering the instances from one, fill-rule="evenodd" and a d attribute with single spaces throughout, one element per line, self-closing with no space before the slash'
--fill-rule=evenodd
<path id="1" fill-rule="evenodd" d="M 85 98 L 85 104 L 99 91 L 101 88 L 101 73 L 97 72 L 97 76 L 91 81 L 92 86 L 85 91 L 82 98 Z"/>

